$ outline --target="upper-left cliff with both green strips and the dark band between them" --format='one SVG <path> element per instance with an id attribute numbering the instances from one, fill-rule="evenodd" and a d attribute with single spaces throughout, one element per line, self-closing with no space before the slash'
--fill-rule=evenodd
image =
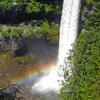
<path id="1" fill-rule="evenodd" d="M 0 34 L 4 38 L 12 36 L 17 39 L 47 36 L 56 44 L 61 9 L 60 0 L 1 0 Z"/>

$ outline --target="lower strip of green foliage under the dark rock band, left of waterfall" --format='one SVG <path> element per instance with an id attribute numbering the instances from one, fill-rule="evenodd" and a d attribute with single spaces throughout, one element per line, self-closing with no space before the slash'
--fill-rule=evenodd
<path id="1" fill-rule="evenodd" d="M 19 26 L 0 26 L 0 33 L 5 37 L 18 38 L 41 38 L 47 36 L 51 43 L 58 43 L 59 40 L 59 25 L 52 23 L 51 25 L 47 20 L 44 21 L 31 21 L 31 24 L 20 24 Z"/>

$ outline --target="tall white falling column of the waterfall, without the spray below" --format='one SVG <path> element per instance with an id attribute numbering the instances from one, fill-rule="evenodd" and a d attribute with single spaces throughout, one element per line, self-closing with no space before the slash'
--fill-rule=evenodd
<path id="1" fill-rule="evenodd" d="M 72 49 L 72 44 L 77 37 L 78 17 L 79 17 L 80 0 L 64 0 L 62 18 L 60 24 L 60 39 L 59 39 L 59 73 L 63 76 L 63 68 L 71 70 L 68 66 L 68 56 Z M 67 62 L 67 66 L 65 65 Z M 60 78 L 63 80 L 63 77 Z"/>

